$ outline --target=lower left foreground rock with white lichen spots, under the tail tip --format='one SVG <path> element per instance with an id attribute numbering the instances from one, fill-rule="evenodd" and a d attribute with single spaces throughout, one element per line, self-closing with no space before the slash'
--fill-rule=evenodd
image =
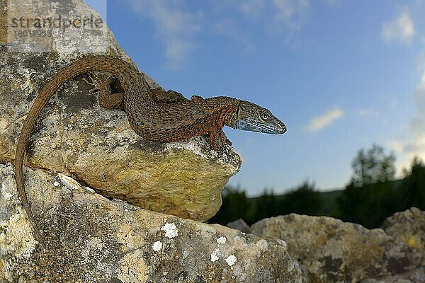
<path id="1" fill-rule="evenodd" d="M 108 200 L 62 173 L 24 168 L 45 246 L 0 164 L 0 282 L 301 282 L 280 240 Z"/>

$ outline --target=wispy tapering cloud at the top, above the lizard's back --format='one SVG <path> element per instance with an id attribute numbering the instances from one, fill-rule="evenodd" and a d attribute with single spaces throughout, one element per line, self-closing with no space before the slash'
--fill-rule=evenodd
<path id="1" fill-rule="evenodd" d="M 194 37 L 202 30 L 203 13 L 183 11 L 183 1 L 128 1 L 137 13 L 153 20 L 165 47 L 166 66 L 180 69 L 196 46 Z"/>

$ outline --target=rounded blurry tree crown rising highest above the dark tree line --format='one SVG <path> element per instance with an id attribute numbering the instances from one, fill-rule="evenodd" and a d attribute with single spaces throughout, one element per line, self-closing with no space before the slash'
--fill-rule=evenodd
<path id="1" fill-rule="evenodd" d="M 358 151 L 351 166 L 353 177 L 351 183 L 354 187 L 364 187 L 378 182 L 392 181 L 395 179 L 395 156 L 385 154 L 382 146 L 373 144 L 365 151 Z"/>

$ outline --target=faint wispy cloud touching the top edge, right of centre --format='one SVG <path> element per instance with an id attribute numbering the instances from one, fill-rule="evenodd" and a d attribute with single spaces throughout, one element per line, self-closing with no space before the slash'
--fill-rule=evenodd
<path id="1" fill-rule="evenodd" d="M 310 0 L 273 0 L 273 5 L 276 8 L 274 21 L 278 30 L 300 30 L 310 11 Z"/>

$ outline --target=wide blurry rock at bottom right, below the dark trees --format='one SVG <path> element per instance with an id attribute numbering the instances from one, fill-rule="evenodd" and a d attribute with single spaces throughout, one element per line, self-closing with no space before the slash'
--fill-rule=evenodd
<path id="1" fill-rule="evenodd" d="M 421 253 L 388 236 L 326 216 L 289 214 L 263 219 L 252 233 L 288 243 L 310 282 L 360 282 L 404 274 L 421 264 Z"/>

